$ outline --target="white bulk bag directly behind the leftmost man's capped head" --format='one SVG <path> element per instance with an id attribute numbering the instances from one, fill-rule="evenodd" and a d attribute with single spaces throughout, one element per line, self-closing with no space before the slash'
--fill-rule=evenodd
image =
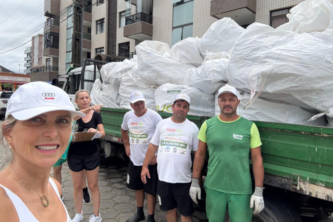
<path id="1" fill-rule="evenodd" d="M 133 71 L 133 70 L 132 70 Z M 154 92 L 157 87 L 147 85 L 138 74 L 134 72 L 127 72 L 123 75 L 120 81 L 119 95 L 120 95 L 120 107 L 122 109 L 132 110 L 130 106 L 130 95 L 134 91 L 140 91 L 144 94 L 146 100 L 146 107 L 155 111 L 155 99 Z"/>

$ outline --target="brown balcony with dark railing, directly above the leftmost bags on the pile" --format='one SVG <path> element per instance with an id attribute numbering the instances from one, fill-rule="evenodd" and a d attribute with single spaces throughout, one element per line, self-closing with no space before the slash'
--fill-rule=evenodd
<path id="1" fill-rule="evenodd" d="M 144 41 L 152 39 L 152 16 L 144 12 L 127 16 L 124 37 Z"/>

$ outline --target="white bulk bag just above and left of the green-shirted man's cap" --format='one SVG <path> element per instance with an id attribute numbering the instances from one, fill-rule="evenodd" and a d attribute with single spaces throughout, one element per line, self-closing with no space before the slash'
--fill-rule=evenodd
<path id="1" fill-rule="evenodd" d="M 226 66 L 229 59 L 209 60 L 196 68 L 189 79 L 189 85 L 206 94 L 214 94 L 226 80 Z"/>

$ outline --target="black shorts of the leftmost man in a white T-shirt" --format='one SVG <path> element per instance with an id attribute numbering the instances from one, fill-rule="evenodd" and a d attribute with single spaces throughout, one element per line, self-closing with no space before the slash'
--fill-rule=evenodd
<path id="1" fill-rule="evenodd" d="M 141 170 L 142 166 L 135 166 L 130 159 L 127 173 L 127 188 L 133 190 L 144 189 L 148 194 L 156 194 L 158 181 L 157 164 L 148 165 L 150 179 L 147 177 L 147 184 L 144 184 L 141 180 Z"/>

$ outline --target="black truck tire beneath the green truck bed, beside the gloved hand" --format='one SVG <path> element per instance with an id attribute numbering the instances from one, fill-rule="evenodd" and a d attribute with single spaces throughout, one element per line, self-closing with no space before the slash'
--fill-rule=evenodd
<path id="1" fill-rule="evenodd" d="M 296 208 L 287 200 L 265 195 L 265 208 L 259 215 L 253 215 L 251 222 L 302 222 Z M 224 222 L 230 222 L 228 210 Z"/>

